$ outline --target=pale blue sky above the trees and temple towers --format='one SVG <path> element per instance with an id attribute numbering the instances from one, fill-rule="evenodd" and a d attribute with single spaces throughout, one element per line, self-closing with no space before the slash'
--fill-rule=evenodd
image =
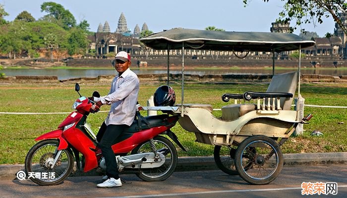
<path id="1" fill-rule="evenodd" d="M 20 12 L 26 10 L 38 19 L 44 16 L 41 4 L 50 0 L 0 0 L 12 21 Z M 96 32 L 99 24 L 108 21 L 111 31 L 116 31 L 120 13 L 123 12 L 127 27 L 133 31 L 136 24 L 140 29 L 146 22 L 153 32 L 175 27 L 204 29 L 208 26 L 226 31 L 270 32 L 284 4 L 281 0 L 250 0 L 243 7 L 242 0 L 52 0 L 68 9 L 79 23 L 86 19 L 90 30 Z M 324 36 L 334 32 L 335 23 L 330 17 L 323 24 L 304 25 L 306 31 Z M 298 27 L 300 29 L 300 27 Z M 299 34 L 299 30 L 294 32 Z"/>

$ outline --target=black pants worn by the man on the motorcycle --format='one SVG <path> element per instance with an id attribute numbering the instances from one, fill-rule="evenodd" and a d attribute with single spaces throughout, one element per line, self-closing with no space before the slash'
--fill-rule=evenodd
<path id="1" fill-rule="evenodd" d="M 106 162 L 106 175 L 111 178 L 119 179 L 119 171 L 116 163 L 116 156 L 111 146 L 116 144 L 117 137 L 123 133 L 128 126 L 125 124 L 108 126 L 103 122 L 96 136 Z"/>

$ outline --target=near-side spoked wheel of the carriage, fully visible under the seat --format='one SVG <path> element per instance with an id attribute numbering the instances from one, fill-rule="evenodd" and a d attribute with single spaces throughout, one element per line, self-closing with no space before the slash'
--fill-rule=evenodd
<path id="1" fill-rule="evenodd" d="M 235 165 L 246 182 L 255 185 L 269 184 L 280 174 L 283 154 L 280 146 L 266 136 L 251 136 L 238 146 Z"/>

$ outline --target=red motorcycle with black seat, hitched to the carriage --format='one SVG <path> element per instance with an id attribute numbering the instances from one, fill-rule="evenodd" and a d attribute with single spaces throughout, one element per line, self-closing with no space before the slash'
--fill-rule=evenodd
<path id="1" fill-rule="evenodd" d="M 75 91 L 78 94 L 79 90 L 80 87 L 76 84 Z M 36 138 L 35 141 L 40 142 L 29 150 L 25 158 L 28 178 L 36 184 L 60 184 L 72 173 L 74 160 L 77 169 L 83 168 L 84 172 L 94 168 L 106 169 L 101 149 L 97 147 L 96 136 L 86 121 L 94 102 L 80 94 L 79 96 L 73 104 L 76 111 L 71 112 L 57 130 Z M 167 135 L 185 150 L 170 130 L 179 115 L 142 117 L 138 111 L 136 115 L 132 125 L 112 146 L 116 153 L 118 169 L 135 171 L 144 181 L 163 181 L 173 173 L 178 157 L 173 143 L 160 135 Z"/>

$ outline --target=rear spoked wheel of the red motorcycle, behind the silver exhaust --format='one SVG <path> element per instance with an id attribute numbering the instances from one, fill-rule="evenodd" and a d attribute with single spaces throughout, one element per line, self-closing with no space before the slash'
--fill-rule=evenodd
<path id="1" fill-rule="evenodd" d="M 165 155 L 165 163 L 157 168 L 140 168 L 136 175 L 148 182 L 163 181 L 173 174 L 176 168 L 178 157 L 173 143 L 165 137 L 157 136 L 153 138 L 157 151 Z M 149 142 L 143 143 L 131 151 L 131 154 L 152 152 Z"/>

